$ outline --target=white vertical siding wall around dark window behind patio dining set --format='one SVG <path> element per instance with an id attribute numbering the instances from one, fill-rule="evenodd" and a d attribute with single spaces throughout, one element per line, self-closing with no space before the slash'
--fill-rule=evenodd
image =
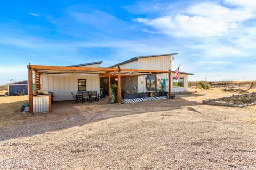
<path id="1" fill-rule="evenodd" d="M 73 100 L 78 91 L 78 79 L 86 79 L 87 91 L 100 92 L 99 74 L 42 74 L 42 89 L 53 92 L 53 101 Z"/>

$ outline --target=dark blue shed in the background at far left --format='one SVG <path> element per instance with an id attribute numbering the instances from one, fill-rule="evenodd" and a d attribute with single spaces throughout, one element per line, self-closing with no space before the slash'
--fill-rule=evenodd
<path id="1" fill-rule="evenodd" d="M 15 95 L 28 95 L 28 80 L 17 81 L 14 83 L 7 84 L 8 85 L 8 95 L 15 96 Z M 33 91 L 34 84 L 33 84 Z"/>

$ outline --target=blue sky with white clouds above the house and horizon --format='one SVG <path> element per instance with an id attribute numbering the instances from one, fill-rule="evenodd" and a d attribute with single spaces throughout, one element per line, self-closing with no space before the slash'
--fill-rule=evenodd
<path id="1" fill-rule="evenodd" d="M 190 81 L 256 80 L 256 2 L 1 1 L 0 84 L 34 65 L 175 53 Z"/>

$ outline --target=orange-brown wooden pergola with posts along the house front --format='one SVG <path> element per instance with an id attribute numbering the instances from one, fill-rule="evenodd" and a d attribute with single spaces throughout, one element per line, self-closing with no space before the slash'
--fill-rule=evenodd
<path id="1" fill-rule="evenodd" d="M 100 77 L 109 79 L 109 92 L 111 78 L 117 78 L 117 94 L 118 103 L 121 103 L 121 78 L 134 77 L 139 75 L 163 74 L 168 73 L 169 82 L 169 98 L 171 98 L 171 71 L 163 70 L 141 70 L 141 69 L 122 69 L 122 68 L 104 68 L 104 67 L 63 67 L 63 66 L 43 66 L 43 65 L 27 65 L 28 67 L 28 89 L 29 89 L 29 113 L 33 112 L 33 72 L 35 83 L 35 94 L 41 89 L 41 74 L 99 74 Z M 156 89 L 157 89 L 157 77 Z M 111 94 L 109 94 L 111 101 Z"/>

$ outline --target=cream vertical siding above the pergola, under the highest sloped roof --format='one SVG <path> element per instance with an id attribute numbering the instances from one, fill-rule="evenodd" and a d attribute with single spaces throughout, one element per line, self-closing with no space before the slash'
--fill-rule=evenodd
<path id="1" fill-rule="evenodd" d="M 171 69 L 171 56 L 139 58 L 138 69 L 169 70 Z"/>

